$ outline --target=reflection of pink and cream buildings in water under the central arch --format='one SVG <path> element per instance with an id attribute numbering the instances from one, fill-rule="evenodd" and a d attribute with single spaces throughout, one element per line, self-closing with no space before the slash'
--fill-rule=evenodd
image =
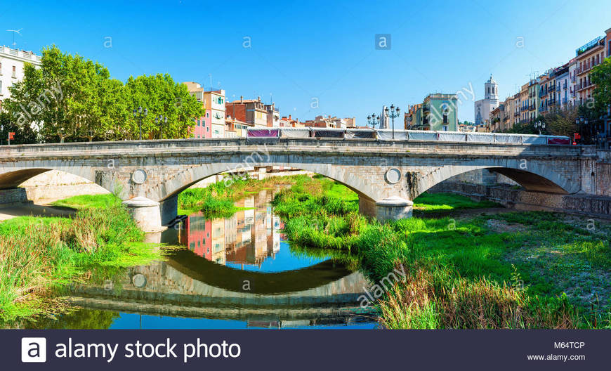
<path id="1" fill-rule="evenodd" d="M 236 202 L 242 210 L 226 219 L 210 221 L 202 213 L 190 215 L 180 231 L 180 245 L 219 264 L 261 266 L 280 251 L 282 222 L 268 206 L 270 197 L 272 193 L 265 190 L 246 197 Z"/>

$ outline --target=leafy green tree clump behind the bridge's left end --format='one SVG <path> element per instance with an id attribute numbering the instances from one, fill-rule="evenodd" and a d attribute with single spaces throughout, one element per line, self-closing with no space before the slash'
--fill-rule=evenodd
<path id="1" fill-rule="evenodd" d="M 25 63 L 24 78 L 10 89 L 4 102 L 9 122 L 28 135 L 35 127 L 47 143 L 137 139 L 139 118 L 132 111 L 138 107 L 148 111 L 143 139 L 160 137 L 159 115 L 168 118 L 164 138 L 186 138 L 195 117 L 204 115 L 202 103 L 169 74 L 130 77 L 124 84 L 100 63 L 56 46 L 44 48 L 41 67 Z"/>

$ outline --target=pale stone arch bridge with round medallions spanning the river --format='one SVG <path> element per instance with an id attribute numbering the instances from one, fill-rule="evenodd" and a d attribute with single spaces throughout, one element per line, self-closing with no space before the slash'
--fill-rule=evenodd
<path id="1" fill-rule="evenodd" d="M 247 167 L 312 171 L 359 195 L 362 214 L 412 215 L 412 200 L 466 171 L 490 169 L 527 190 L 591 193 L 596 150 L 589 146 L 246 138 L 53 143 L 0 147 L 0 189 L 48 170 L 81 176 L 125 200 L 143 230 L 177 213 L 178 194 L 208 176 Z"/>

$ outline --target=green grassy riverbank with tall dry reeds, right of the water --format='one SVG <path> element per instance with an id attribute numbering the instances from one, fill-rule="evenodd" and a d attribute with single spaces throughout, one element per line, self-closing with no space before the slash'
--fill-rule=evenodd
<path id="1" fill-rule="evenodd" d="M 455 197 L 414 204 L 473 207 Z M 302 179 L 274 204 L 292 242 L 357 255 L 381 288 L 372 295 L 386 327 L 611 327 L 608 224 L 514 212 L 382 225 L 357 214 L 350 190 L 320 178 Z"/>

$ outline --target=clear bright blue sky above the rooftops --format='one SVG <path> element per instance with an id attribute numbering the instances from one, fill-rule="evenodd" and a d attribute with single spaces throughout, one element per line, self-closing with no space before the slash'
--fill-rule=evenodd
<path id="1" fill-rule="evenodd" d="M 504 99 L 528 74 L 567 62 L 611 27 L 608 0 L 49 3 L 1 0 L 0 44 L 13 42 L 4 30 L 22 29 L 18 48 L 56 44 L 98 60 L 117 79 L 212 79 L 229 100 L 267 103 L 272 94 L 281 115 L 354 116 L 357 124 L 384 104 L 405 108 L 469 84 L 480 99 L 491 73 Z M 375 50 L 374 34 L 391 34 L 391 49 Z M 313 98 L 318 108 L 310 108 Z M 459 119 L 473 120 L 473 101 L 460 105 Z"/>

